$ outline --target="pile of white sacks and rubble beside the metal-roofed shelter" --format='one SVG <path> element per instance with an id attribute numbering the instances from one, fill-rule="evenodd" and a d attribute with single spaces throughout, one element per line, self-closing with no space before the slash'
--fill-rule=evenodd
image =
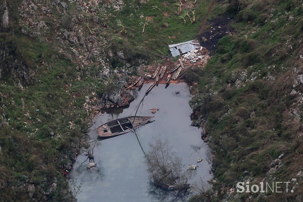
<path id="1" fill-rule="evenodd" d="M 197 65 L 205 66 L 209 55 L 208 50 L 201 47 L 183 54 L 181 58 L 185 64 L 196 63 Z"/>

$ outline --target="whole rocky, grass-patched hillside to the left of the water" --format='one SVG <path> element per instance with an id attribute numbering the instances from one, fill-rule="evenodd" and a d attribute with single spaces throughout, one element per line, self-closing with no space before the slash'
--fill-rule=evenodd
<path id="1" fill-rule="evenodd" d="M 63 170 L 90 117 L 133 99 L 122 87 L 148 57 L 110 38 L 102 9 L 0 1 L 0 201 L 73 200 Z"/>

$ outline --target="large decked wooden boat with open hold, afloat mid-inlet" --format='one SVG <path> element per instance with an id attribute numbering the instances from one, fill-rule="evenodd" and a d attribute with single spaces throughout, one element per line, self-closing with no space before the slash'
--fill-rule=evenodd
<path id="1" fill-rule="evenodd" d="M 144 126 L 154 116 L 128 116 L 109 121 L 96 128 L 99 137 L 109 138 L 122 135 Z"/>

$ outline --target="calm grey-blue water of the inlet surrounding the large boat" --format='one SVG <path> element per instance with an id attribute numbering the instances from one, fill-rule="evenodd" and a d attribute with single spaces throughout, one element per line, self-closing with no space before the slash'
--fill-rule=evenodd
<path id="1" fill-rule="evenodd" d="M 94 130 L 102 123 L 128 116 L 145 95 L 150 84 L 144 84 L 140 91 L 132 91 L 135 100 L 127 108 L 110 109 L 104 115 L 94 118 Z M 68 177 L 81 183 L 81 193 L 77 196 L 82 201 L 186 201 L 188 197 L 176 199 L 175 193 L 156 189 L 148 180 L 144 152 L 150 149 L 149 142 L 155 137 L 169 141 L 175 154 L 183 159 L 185 170 L 188 164 L 197 165 L 197 175 L 190 182 L 211 179 L 211 153 L 206 143 L 201 140 L 201 129 L 191 126 L 191 99 L 185 83 L 171 83 L 165 89 L 164 84 L 155 86 L 145 97 L 137 115 L 155 116 L 152 123 L 138 129 L 138 139 L 132 132 L 102 140 L 94 149 L 97 167 L 87 169 L 86 156 L 79 155 Z M 149 109 L 159 108 L 155 114 Z M 139 114 L 141 112 L 141 114 Z M 135 114 L 135 113 L 133 113 Z M 96 134 L 90 134 L 92 138 Z M 201 163 L 196 163 L 200 158 Z"/>

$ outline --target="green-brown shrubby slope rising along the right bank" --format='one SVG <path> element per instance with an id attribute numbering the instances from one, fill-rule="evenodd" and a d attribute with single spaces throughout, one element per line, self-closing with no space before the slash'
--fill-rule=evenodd
<path id="1" fill-rule="evenodd" d="M 237 1 L 231 1 L 230 7 L 233 7 L 232 2 Z M 233 26 L 238 33 L 222 38 L 207 67 L 201 72 L 192 72 L 200 77 L 198 89 L 204 93 L 192 104 L 198 103 L 195 107 L 199 114 L 208 117 L 206 131 L 211 135 L 210 146 L 215 150 L 213 166 L 217 182 L 214 190 L 218 191 L 218 196 L 214 201 L 226 197 L 226 187 L 234 187 L 237 181 L 260 182 L 270 169 L 271 161 L 282 153 L 285 153 L 283 166 L 266 181 L 290 181 L 301 170 L 298 161 L 302 159 L 298 137 L 301 115 L 290 113 L 292 104 L 297 102 L 290 92 L 296 77 L 293 67 L 300 66 L 302 4 L 252 1 L 239 5 L 239 10 L 228 9 L 236 12 Z M 273 16 L 268 19 L 271 14 Z M 288 20 L 290 15 L 293 20 Z M 298 69 L 300 74 L 302 70 Z M 258 72 L 258 76 L 254 82 L 236 89 L 233 84 L 227 86 L 233 70 L 247 70 L 248 79 L 251 79 L 251 72 Z M 277 79 L 262 79 L 268 72 Z M 213 77 L 218 82 L 213 83 Z M 218 94 L 208 96 L 213 90 L 218 90 Z M 301 92 L 301 87 L 296 90 Z M 269 193 L 266 199 L 260 196 L 259 200 L 294 200 L 301 193 L 299 185 L 294 194 Z M 234 200 L 248 200 L 249 196 L 251 194 L 243 193 Z"/>

